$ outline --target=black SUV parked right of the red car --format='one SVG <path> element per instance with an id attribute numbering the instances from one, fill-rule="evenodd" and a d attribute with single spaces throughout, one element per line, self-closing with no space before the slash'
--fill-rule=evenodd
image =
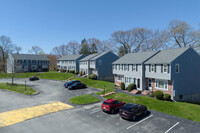
<path id="1" fill-rule="evenodd" d="M 136 120 L 136 117 L 147 113 L 147 107 L 141 104 L 127 103 L 119 110 L 122 118 Z"/>

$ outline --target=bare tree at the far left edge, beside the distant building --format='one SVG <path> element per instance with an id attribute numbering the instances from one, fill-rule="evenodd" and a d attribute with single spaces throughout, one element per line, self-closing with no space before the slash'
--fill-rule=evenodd
<path id="1" fill-rule="evenodd" d="M 7 36 L 0 36 L 0 57 L 2 59 L 2 69 L 6 72 L 6 59 L 9 53 L 14 51 L 14 45 L 11 39 Z"/>

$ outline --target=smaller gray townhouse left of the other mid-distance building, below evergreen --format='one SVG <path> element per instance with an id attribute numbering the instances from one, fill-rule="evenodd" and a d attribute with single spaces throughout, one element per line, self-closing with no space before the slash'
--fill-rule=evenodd
<path id="1" fill-rule="evenodd" d="M 65 69 L 65 70 L 75 70 L 76 72 L 79 71 L 79 60 L 84 58 L 85 55 L 65 55 L 58 59 L 58 68 Z"/>

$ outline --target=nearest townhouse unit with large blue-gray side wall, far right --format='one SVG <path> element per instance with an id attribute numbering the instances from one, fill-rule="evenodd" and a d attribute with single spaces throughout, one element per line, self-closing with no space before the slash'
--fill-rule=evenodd
<path id="1" fill-rule="evenodd" d="M 162 50 L 146 63 L 146 85 L 174 100 L 200 103 L 200 56 L 192 48 Z"/>

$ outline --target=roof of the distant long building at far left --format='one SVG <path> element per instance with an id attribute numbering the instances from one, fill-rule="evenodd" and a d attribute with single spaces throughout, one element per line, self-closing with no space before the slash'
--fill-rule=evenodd
<path id="1" fill-rule="evenodd" d="M 45 55 L 35 54 L 12 54 L 12 57 L 17 60 L 49 60 Z"/>

